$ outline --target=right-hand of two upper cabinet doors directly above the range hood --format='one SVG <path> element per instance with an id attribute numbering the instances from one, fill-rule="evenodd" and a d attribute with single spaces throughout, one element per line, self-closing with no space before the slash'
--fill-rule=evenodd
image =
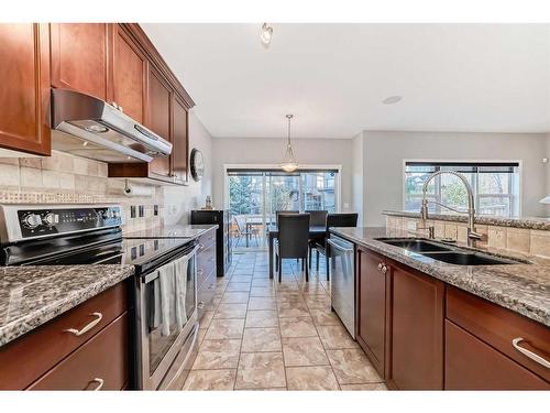
<path id="1" fill-rule="evenodd" d="M 114 24 L 112 41 L 112 101 L 140 123 L 146 117 L 147 59 L 124 29 Z"/>

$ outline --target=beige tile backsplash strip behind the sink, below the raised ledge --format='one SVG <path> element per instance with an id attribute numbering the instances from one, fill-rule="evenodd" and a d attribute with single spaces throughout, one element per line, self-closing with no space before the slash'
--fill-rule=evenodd
<path id="1" fill-rule="evenodd" d="M 426 230 L 420 229 L 420 226 L 421 221 L 417 218 L 386 216 L 387 228 L 399 228 L 411 233 L 427 236 Z M 451 238 L 459 242 L 466 242 L 468 226 L 463 222 L 429 219 L 427 226 L 435 227 L 436 238 Z M 484 236 L 483 240 L 477 242 L 480 248 L 550 258 L 550 231 L 548 230 L 493 225 L 476 225 L 475 230 Z"/>

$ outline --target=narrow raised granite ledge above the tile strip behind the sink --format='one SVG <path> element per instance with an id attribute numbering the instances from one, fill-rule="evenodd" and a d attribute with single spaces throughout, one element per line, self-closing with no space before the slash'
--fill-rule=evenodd
<path id="1" fill-rule="evenodd" d="M 407 217 L 420 219 L 420 213 L 409 210 L 383 210 L 383 215 L 391 217 Z M 468 222 L 466 214 L 428 214 L 428 219 L 446 220 L 453 222 Z M 550 218 L 542 217 L 520 217 L 520 218 L 506 218 L 490 215 L 476 215 L 475 224 L 479 225 L 494 225 L 497 227 L 512 227 L 525 229 L 550 230 Z"/>

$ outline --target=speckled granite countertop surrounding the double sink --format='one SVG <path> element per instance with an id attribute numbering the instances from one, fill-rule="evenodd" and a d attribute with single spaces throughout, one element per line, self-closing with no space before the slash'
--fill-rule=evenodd
<path id="1" fill-rule="evenodd" d="M 376 240 L 376 238 L 385 237 L 410 237 L 410 233 L 404 230 L 359 227 L 331 228 L 330 231 L 446 283 L 550 326 L 550 263 L 548 260 L 534 259 L 531 264 L 453 265 Z"/>

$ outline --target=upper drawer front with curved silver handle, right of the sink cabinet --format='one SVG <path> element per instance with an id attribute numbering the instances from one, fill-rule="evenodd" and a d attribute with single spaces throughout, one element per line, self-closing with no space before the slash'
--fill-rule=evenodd
<path id="1" fill-rule="evenodd" d="M 521 354 L 512 343 L 520 337 L 524 340 L 519 346 L 550 360 L 547 326 L 454 287 L 447 289 L 447 318 L 550 381 L 550 369 Z"/>

